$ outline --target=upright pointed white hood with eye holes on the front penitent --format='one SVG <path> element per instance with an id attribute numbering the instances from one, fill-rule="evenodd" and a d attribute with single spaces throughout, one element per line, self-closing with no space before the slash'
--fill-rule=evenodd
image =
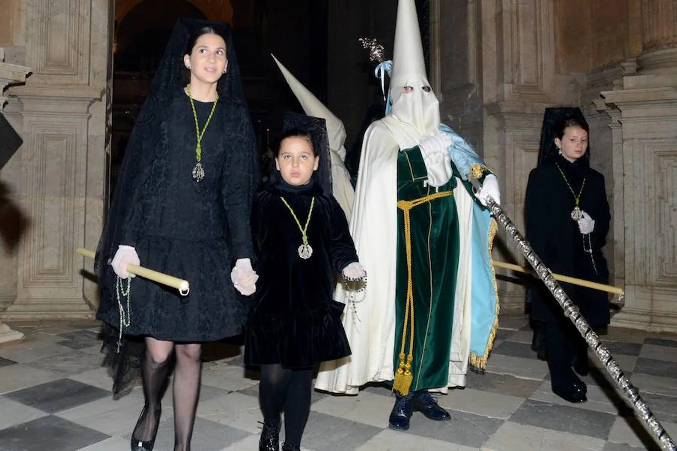
<path id="1" fill-rule="evenodd" d="M 404 87 L 411 87 L 405 93 Z M 390 80 L 391 114 L 421 137 L 438 133 L 439 101 L 425 72 L 423 46 L 414 0 L 399 0 Z"/>

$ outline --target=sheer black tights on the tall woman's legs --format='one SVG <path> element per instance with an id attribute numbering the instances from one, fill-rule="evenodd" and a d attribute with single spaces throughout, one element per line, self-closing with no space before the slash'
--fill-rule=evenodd
<path id="1" fill-rule="evenodd" d="M 173 352 L 176 357 L 173 383 L 174 450 L 190 451 L 200 391 L 200 345 L 196 343 L 175 344 L 146 338 L 146 356 L 141 366 L 146 407 L 132 436 L 135 440 L 150 442 L 156 434 L 160 423 L 160 401 L 167 386 Z"/>

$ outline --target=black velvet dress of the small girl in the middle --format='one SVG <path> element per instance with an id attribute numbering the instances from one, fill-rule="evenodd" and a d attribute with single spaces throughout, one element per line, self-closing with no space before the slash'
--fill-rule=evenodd
<path id="1" fill-rule="evenodd" d="M 308 227 L 313 254 L 299 256 L 301 231 L 280 197 Z M 357 262 L 353 239 L 339 203 L 319 185 L 276 183 L 255 196 L 252 229 L 259 274 L 256 304 L 250 314 L 244 348 L 247 364 L 307 368 L 350 355 L 341 314 L 333 300 L 334 275 Z"/>

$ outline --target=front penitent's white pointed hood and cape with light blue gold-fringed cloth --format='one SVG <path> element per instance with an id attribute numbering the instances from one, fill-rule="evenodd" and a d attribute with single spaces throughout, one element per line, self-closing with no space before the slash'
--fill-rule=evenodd
<path id="1" fill-rule="evenodd" d="M 412 89 L 406 92 L 404 87 Z M 454 303 L 453 319 L 450 319 L 453 325 L 449 327 L 450 349 L 445 353 L 449 359 L 446 383 L 420 388 L 446 391 L 447 387 L 464 386 L 468 362 L 478 368 L 486 366 L 498 328 L 498 295 L 491 258 L 496 222 L 473 198 L 468 176 L 482 179 L 489 172 L 461 137 L 440 124 L 439 103 L 429 87 L 414 1 L 400 0 L 391 77 L 391 114 L 372 123 L 366 131 L 350 219 L 351 235 L 368 281 L 362 293 L 350 291 L 342 284 L 336 288 L 336 300 L 347 304 L 343 326 L 352 355 L 322 364 L 315 385 L 318 389 L 357 394 L 359 387 L 366 383 L 394 378 L 399 352 L 395 332 L 401 324 L 401 318 L 396 318 L 395 302 L 397 243 L 402 227 L 398 223 L 397 207 L 398 156 L 438 133 L 449 135 L 453 143 L 438 153 L 423 156 L 429 180 L 421 183 L 436 179 L 437 184 L 433 186 L 439 186 L 450 180 L 452 170 L 456 177 L 456 189 L 446 201 L 455 203 L 458 215 L 459 236 L 458 241 L 454 240 L 458 243 L 458 270 L 449 276 L 456 277 L 455 292 L 437 300 Z M 420 153 L 419 159 L 422 155 Z"/>

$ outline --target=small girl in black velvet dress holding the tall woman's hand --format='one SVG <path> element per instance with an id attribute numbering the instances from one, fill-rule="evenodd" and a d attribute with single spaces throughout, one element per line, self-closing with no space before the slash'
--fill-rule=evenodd
<path id="1" fill-rule="evenodd" d="M 261 366 L 263 432 L 259 450 L 300 450 L 310 412 L 313 366 L 350 355 L 332 300 L 334 271 L 365 276 L 339 203 L 313 179 L 319 149 L 305 130 L 289 130 L 274 149 L 278 181 L 255 196 L 253 241 L 259 274 L 244 359 Z"/>

